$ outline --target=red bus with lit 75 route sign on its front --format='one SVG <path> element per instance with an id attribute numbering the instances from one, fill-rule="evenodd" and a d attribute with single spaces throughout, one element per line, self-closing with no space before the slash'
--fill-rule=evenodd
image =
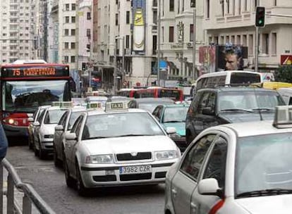
<path id="1" fill-rule="evenodd" d="M 28 137 L 28 118 L 38 106 L 71 101 L 74 84 L 71 84 L 69 65 L 12 63 L 3 64 L 0 69 L 0 119 L 8 139 Z"/>

